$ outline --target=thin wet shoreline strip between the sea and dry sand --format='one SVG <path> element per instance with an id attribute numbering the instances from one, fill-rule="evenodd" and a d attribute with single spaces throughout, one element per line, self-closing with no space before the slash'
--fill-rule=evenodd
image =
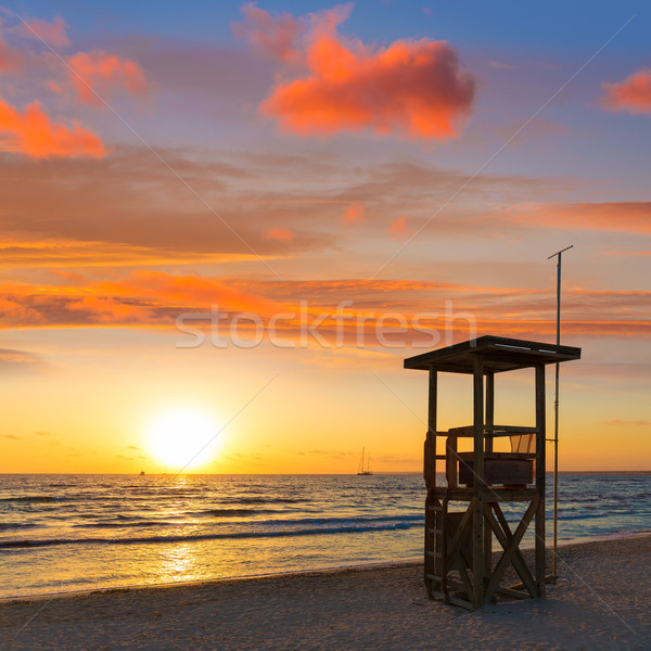
<path id="1" fill-rule="evenodd" d="M 608 534 L 604 536 L 591 536 L 591 537 L 583 537 L 575 538 L 572 540 L 565 540 L 559 542 L 559 549 L 565 547 L 572 547 L 576 545 L 589 545 L 593 542 L 603 542 L 609 540 L 618 540 L 618 539 L 629 539 L 637 537 L 651 537 L 651 532 L 614 532 L 612 534 Z M 523 551 L 532 550 L 533 546 L 523 546 L 521 547 Z M 551 547 L 548 544 L 547 550 L 550 551 Z M 651 560 L 651 559 L 650 559 Z M 233 575 L 233 576 L 224 576 L 224 577 L 215 577 L 215 578 L 200 578 L 194 580 L 183 580 L 183 582 L 169 582 L 169 583 L 157 583 L 157 584 L 135 584 L 135 585 L 126 585 L 126 586 L 106 586 L 106 587 L 98 587 L 98 588 L 84 588 L 79 590 L 65 590 L 60 592 L 37 592 L 35 595 L 15 595 L 8 597 L 0 597 L 0 607 L 5 603 L 29 603 L 34 601 L 43 601 L 43 600 L 54 600 L 54 599 L 66 599 L 74 597 L 85 597 L 88 595 L 98 595 L 104 592 L 115 592 L 119 590 L 150 590 L 150 589 L 167 589 L 175 587 L 186 587 L 186 586 L 210 586 L 213 584 L 221 584 L 224 582 L 244 582 L 244 580 L 256 580 L 264 578 L 272 578 L 272 577 L 292 577 L 292 576 L 304 576 L 304 575 L 321 575 L 321 574 L 332 574 L 336 572 L 346 572 L 346 571 L 363 571 L 363 570 L 373 570 L 373 569 L 390 569 L 390 567 L 403 567 L 403 566 L 411 566 L 422 564 L 422 554 L 413 558 L 407 559 L 398 559 L 395 561 L 369 561 L 368 563 L 357 563 L 353 565 L 332 565 L 332 566 L 320 566 L 320 567 L 302 567 L 298 570 L 288 570 L 285 572 L 263 572 L 260 574 L 244 574 L 244 575 Z"/>

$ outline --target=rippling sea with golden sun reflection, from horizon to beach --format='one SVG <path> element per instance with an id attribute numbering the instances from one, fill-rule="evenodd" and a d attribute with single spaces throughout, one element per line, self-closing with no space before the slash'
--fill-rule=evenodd
<path id="1" fill-rule="evenodd" d="M 417 474 L 0 475 L 0 598 L 417 560 L 424 498 Z M 561 474 L 558 526 L 651 532 L 651 474 Z"/>

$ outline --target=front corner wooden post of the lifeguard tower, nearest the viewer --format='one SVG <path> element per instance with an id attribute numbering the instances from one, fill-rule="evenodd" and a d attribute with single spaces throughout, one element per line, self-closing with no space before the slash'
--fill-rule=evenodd
<path id="1" fill-rule="evenodd" d="M 484 603 L 484 360 L 473 357 L 473 608 Z"/>

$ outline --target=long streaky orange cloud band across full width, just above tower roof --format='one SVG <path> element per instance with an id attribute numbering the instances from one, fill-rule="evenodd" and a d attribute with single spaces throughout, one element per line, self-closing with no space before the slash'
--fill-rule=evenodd
<path id="1" fill-rule="evenodd" d="M 308 305 L 319 332 L 337 341 L 343 323 L 344 342 L 374 346 L 378 328 L 396 327 L 386 312 L 403 315 L 411 328 L 399 341 L 430 342 L 431 331 L 468 335 L 469 318 L 477 334 L 493 333 L 553 341 L 556 334 L 552 292 L 450 285 L 411 280 L 260 281 L 214 279 L 136 271 L 115 280 L 91 280 L 78 275 L 58 285 L 3 283 L 0 315 L 4 328 L 67 326 L 174 327 L 184 311 L 206 312 L 213 306 L 224 312 L 254 312 L 263 322 L 273 315 L 295 312 L 276 321 L 278 334 L 301 336 L 298 306 Z M 449 304 L 454 297 L 454 307 Z M 563 331 L 569 337 L 614 336 L 647 339 L 651 334 L 650 292 L 572 290 L 565 292 Z M 337 321 L 343 301 L 350 301 Z M 449 309 L 449 314 L 448 314 Z M 326 312 L 324 320 L 321 315 Z M 328 316 L 330 315 L 330 316 Z M 361 320 L 360 320 L 361 318 Z M 243 327 L 244 330 L 246 327 Z M 430 333 L 427 332 L 430 331 Z M 392 335 L 393 336 L 393 335 Z M 396 335 L 397 336 L 397 335 Z M 390 337 L 391 339 L 391 337 Z"/>

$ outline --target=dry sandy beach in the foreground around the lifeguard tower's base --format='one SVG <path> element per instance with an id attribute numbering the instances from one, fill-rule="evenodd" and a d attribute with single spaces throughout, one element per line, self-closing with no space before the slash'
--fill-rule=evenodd
<path id="1" fill-rule="evenodd" d="M 651 536 L 561 548 L 548 598 L 476 612 L 424 598 L 420 564 L 0 603 L 0 648 L 651 649 Z"/>

